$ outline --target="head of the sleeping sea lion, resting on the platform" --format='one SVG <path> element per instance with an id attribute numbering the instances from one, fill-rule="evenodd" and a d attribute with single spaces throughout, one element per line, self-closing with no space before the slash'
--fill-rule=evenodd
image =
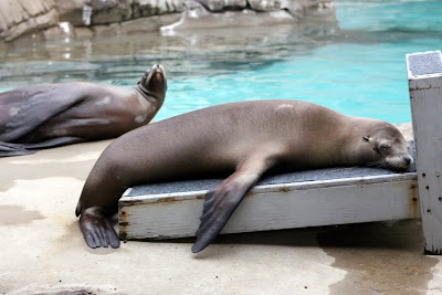
<path id="1" fill-rule="evenodd" d="M 412 164 L 409 145 L 403 135 L 389 123 L 373 122 L 359 139 L 359 158 L 367 166 L 406 171 Z"/>

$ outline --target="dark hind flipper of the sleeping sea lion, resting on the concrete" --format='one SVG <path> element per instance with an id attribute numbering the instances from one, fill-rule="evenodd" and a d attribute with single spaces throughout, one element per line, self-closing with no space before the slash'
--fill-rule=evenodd
<path id="1" fill-rule="evenodd" d="M 110 220 L 101 213 L 97 208 L 88 208 L 82 211 L 77 204 L 75 214 L 80 214 L 80 228 L 83 232 L 84 241 L 90 247 L 119 247 L 119 238 L 112 226 Z"/>

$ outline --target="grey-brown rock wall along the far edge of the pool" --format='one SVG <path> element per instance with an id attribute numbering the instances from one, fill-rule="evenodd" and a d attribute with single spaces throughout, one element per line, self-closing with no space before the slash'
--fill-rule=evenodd
<path id="1" fill-rule="evenodd" d="M 333 0 L 197 0 L 209 13 L 282 11 L 284 22 L 307 17 L 335 19 Z M 24 35 L 43 39 L 91 38 L 103 34 L 131 34 L 157 31 L 182 19 L 188 0 L 1 0 L 0 41 Z M 84 8 L 92 10 L 85 21 Z M 265 13 L 264 13 L 265 14 Z M 262 14 L 262 15 L 264 15 Z M 233 14 L 235 15 L 235 14 Z M 198 15 L 188 13 L 197 19 Z M 198 22 L 198 20 L 197 20 Z M 62 23 L 60 25 L 60 23 Z M 219 22 L 221 23 L 221 22 Z M 227 22 L 232 24 L 231 21 Z M 254 25 L 256 22 L 251 22 Z M 220 24 L 221 25 L 221 24 Z"/>

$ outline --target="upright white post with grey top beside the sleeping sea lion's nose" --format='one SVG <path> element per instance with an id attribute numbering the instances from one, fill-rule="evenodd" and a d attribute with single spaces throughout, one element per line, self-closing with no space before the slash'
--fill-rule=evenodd
<path id="1" fill-rule="evenodd" d="M 425 253 L 442 254 L 442 56 L 407 54 Z"/>

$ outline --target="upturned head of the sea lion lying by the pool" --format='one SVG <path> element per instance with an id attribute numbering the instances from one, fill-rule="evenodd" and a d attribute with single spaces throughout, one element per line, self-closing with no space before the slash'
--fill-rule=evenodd
<path id="1" fill-rule="evenodd" d="M 148 96 L 164 99 L 167 91 L 167 76 L 162 65 L 154 64 L 150 70 L 146 71 L 138 82 L 138 87 Z"/>

